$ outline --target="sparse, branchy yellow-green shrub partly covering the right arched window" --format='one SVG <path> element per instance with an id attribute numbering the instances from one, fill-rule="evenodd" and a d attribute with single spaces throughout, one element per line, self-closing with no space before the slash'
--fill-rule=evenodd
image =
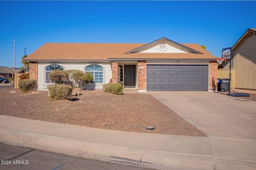
<path id="1" fill-rule="evenodd" d="M 66 70 L 64 72 L 65 80 L 74 88 L 81 88 L 84 83 L 92 81 L 92 75 L 89 72 L 83 72 L 80 70 Z"/>

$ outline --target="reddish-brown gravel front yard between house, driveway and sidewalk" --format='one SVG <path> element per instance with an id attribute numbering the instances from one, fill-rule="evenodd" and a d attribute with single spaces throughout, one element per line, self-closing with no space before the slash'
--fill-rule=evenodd
<path id="1" fill-rule="evenodd" d="M 150 94 L 113 95 L 82 91 L 70 100 L 50 101 L 47 91 L 23 95 L 0 90 L 1 115 L 130 132 L 204 136 Z M 148 131 L 146 126 L 155 130 Z"/>

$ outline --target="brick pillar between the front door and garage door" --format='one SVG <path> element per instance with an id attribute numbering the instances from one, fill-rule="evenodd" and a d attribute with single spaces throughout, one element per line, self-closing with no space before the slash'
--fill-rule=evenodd
<path id="1" fill-rule="evenodd" d="M 138 61 L 138 90 L 146 90 L 147 82 L 146 61 Z"/>

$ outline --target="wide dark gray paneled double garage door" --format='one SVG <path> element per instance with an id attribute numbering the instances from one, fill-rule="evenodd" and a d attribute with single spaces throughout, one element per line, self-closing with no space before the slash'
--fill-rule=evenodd
<path id="1" fill-rule="evenodd" d="M 147 65 L 148 91 L 207 91 L 208 65 Z"/>

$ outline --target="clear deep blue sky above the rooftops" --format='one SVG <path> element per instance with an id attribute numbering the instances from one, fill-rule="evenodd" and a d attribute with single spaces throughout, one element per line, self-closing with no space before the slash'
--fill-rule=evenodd
<path id="1" fill-rule="evenodd" d="M 255 1 L 0 1 L 0 65 L 44 43 L 149 43 L 167 37 L 213 55 L 256 28 Z"/>

